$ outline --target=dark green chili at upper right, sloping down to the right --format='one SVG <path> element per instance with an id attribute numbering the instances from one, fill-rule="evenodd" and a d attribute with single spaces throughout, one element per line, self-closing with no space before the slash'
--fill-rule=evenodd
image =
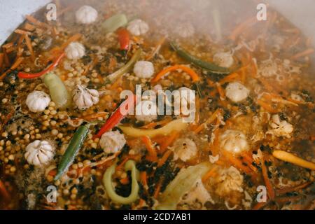
<path id="1" fill-rule="evenodd" d="M 213 73 L 221 73 L 221 74 L 228 74 L 231 73 L 230 69 L 218 66 L 216 64 L 212 64 L 210 62 L 204 62 L 202 59 L 199 59 L 193 55 L 190 55 L 185 50 L 181 49 L 176 43 L 171 43 L 172 48 L 176 51 L 176 53 L 186 59 L 188 62 L 191 62 L 197 66 L 200 66 L 202 69 L 206 69 Z"/>

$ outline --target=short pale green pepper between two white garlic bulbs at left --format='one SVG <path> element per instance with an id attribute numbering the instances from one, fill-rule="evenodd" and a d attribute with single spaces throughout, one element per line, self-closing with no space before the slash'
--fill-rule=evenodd
<path id="1" fill-rule="evenodd" d="M 47 73 L 43 81 L 49 89 L 49 94 L 53 102 L 59 109 L 66 109 L 71 105 L 71 96 L 66 90 L 66 86 L 55 73 Z"/>

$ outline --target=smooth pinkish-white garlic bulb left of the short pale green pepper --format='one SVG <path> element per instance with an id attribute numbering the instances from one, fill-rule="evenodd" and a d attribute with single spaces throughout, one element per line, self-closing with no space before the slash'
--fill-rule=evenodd
<path id="1" fill-rule="evenodd" d="M 27 95 L 26 104 L 31 112 L 42 112 L 50 103 L 50 97 L 43 91 L 33 91 Z"/>

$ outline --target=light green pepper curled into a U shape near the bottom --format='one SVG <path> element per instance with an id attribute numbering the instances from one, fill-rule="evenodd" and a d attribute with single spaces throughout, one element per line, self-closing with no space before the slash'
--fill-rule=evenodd
<path id="1" fill-rule="evenodd" d="M 103 183 L 104 187 L 106 189 L 106 193 L 109 195 L 111 200 L 116 203 L 120 204 L 131 204 L 132 202 L 136 201 L 139 194 L 139 171 L 136 168 L 136 162 L 133 160 L 129 160 L 125 164 L 125 171 L 131 170 L 131 176 L 132 176 L 132 190 L 128 197 L 122 197 L 120 195 L 117 195 L 115 192 L 115 189 L 113 188 L 113 183 L 111 180 L 111 176 L 113 176 L 113 173 L 115 172 L 116 164 L 112 165 L 108 169 L 106 169 L 106 172 L 103 176 Z"/>

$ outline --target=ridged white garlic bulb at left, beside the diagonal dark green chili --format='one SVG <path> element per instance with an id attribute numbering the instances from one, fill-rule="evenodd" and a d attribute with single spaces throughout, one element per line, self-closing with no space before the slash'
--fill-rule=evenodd
<path id="1" fill-rule="evenodd" d="M 47 165 L 55 155 L 53 148 L 48 141 L 36 140 L 26 148 L 25 159 L 31 165 L 41 167 Z"/>

